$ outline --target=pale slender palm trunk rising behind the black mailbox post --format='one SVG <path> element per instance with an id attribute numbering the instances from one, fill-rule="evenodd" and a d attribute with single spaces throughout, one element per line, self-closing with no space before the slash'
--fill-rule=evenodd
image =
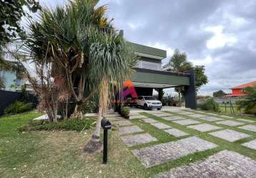
<path id="1" fill-rule="evenodd" d="M 102 115 L 107 114 L 107 106 L 109 100 L 109 81 L 107 77 L 102 78 L 102 83 L 99 88 L 99 112 L 97 116 L 97 125 L 92 135 L 92 140 L 90 140 L 85 146 L 84 150 L 86 152 L 94 152 L 98 150 L 102 143 L 99 140 L 100 128 L 102 122 Z"/>

